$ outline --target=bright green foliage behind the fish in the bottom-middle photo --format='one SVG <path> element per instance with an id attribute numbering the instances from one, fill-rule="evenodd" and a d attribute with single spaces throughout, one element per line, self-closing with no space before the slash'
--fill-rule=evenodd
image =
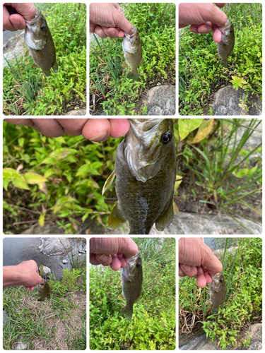
<path id="1" fill-rule="evenodd" d="M 121 273 L 90 266 L 90 349 L 172 350 L 176 347 L 176 243 L 173 238 L 132 238 L 141 251 L 143 287 L 131 321 L 119 316 Z"/>

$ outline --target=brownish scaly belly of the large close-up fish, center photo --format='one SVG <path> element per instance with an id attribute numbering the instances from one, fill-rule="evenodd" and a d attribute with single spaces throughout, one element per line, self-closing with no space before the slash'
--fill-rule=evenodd
<path id="1" fill-rule="evenodd" d="M 145 183 L 138 181 L 124 160 L 123 143 L 119 144 L 115 162 L 116 193 L 119 209 L 129 221 L 129 234 L 149 234 L 163 212 L 172 207 L 175 186 L 173 169 L 165 166 Z"/>

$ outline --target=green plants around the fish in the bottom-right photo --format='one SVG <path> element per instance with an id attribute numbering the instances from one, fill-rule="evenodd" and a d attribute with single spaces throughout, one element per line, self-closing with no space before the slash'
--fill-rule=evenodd
<path id="1" fill-rule="evenodd" d="M 221 349 L 242 349 L 249 347 L 249 325 L 262 320 L 262 239 L 219 238 L 216 243 L 224 250 L 216 256 L 223 264 L 225 305 L 211 315 L 209 286 L 201 289 L 196 278 L 179 277 L 179 335 L 204 331 Z M 230 246 L 233 251 L 227 251 Z"/>

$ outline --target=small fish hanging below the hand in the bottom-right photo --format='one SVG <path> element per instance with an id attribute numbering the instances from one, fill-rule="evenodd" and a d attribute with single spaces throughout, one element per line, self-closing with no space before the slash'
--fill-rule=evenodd
<path id="1" fill-rule="evenodd" d="M 212 310 L 218 311 L 219 306 L 223 308 L 225 302 L 225 277 L 219 272 L 212 276 L 213 281 L 210 284 L 210 301 L 213 304 Z"/>

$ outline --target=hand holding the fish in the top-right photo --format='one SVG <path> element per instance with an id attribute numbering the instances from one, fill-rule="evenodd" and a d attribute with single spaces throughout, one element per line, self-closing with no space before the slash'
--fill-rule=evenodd
<path id="1" fill-rule="evenodd" d="M 223 8 L 225 3 L 217 4 Z M 213 4 L 179 4 L 179 28 L 191 25 L 189 30 L 194 33 L 210 33 L 213 30 L 213 40 L 220 42 L 222 32 L 219 27 L 225 25 L 226 15 Z"/>

